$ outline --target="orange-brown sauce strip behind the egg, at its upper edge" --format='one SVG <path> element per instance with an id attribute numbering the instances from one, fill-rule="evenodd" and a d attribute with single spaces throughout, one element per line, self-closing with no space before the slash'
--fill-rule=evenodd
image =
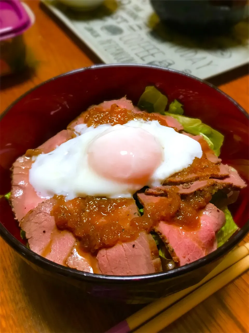
<path id="1" fill-rule="evenodd" d="M 102 124 L 124 125 L 134 119 L 157 120 L 161 125 L 167 126 L 166 118 L 159 114 L 156 115 L 147 112 L 133 113 L 130 110 L 118 107 L 116 104 L 113 104 L 110 110 L 106 111 L 99 107 L 89 110 L 84 123 L 87 124 L 88 127 L 97 127 Z"/>

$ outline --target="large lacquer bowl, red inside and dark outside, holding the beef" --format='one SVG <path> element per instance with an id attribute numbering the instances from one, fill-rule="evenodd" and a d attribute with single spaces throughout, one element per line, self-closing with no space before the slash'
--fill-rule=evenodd
<path id="1" fill-rule="evenodd" d="M 144 88 L 155 85 L 178 99 L 185 115 L 200 118 L 225 135 L 221 150 L 224 163 L 235 166 L 245 179 L 249 117 L 233 99 L 202 80 L 174 70 L 146 65 L 97 65 L 53 78 L 14 102 L 0 122 L 0 194 L 11 188 L 10 167 L 29 148 L 36 148 L 92 104 L 127 96 L 137 103 Z M 179 157 L 180 158 L 180 157 Z M 245 179 L 248 181 L 248 179 Z M 249 186 L 248 186 L 249 187 Z M 140 276 L 107 276 L 84 273 L 51 262 L 29 250 L 20 238 L 20 230 L 11 207 L 0 199 L 0 234 L 36 270 L 52 278 L 74 284 L 87 293 L 126 302 L 149 302 L 199 282 L 249 231 L 248 187 L 230 206 L 241 227 L 223 246 L 189 265 L 175 270 Z"/>

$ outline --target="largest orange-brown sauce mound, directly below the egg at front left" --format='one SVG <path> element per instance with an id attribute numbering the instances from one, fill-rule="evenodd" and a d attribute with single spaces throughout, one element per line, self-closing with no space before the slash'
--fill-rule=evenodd
<path id="1" fill-rule="evenodd" d="M 71 230 L 80 239 L 84 251 L 95 252 L 138 235 L 139 229 L 130 224 L 138 216 L 133 199 L 87 196 L 65 201 L 57 195 L 54 198 L 57 203 L 51 215 L 58 228 Z"/>

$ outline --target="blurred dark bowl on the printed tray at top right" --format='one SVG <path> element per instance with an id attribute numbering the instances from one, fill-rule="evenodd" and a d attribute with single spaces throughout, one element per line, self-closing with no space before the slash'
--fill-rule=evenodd
<path id="1" fill-rule="evenodd" d="M 150 0 L 160 20 L 193 35 L 227 33 L 248 17 L 247 0 Z"/>

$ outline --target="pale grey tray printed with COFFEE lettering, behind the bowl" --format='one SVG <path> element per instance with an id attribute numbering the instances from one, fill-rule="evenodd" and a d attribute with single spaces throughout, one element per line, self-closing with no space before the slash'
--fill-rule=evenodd
<path id="1" fill-rule="evenodd" d="M 42 2 L 106 64 L 158 65 L 207 79 L 248 63 L 246 20 L 236 24 L 229 34 L 196 38 L 178 33 L 177 24 L 168 28 L 150 0 L 110 0 L 87 12 L 73 11 L 58 1 Z M 196 0 L 193 5 L 202 2 Z M 178 15 L 179 0 L 160 3 L 175 3 Z"/>

